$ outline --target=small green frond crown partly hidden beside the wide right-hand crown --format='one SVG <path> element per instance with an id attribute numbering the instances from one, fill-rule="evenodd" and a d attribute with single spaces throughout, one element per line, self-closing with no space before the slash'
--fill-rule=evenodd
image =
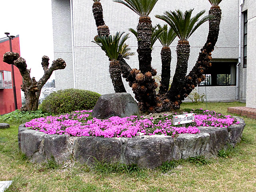
<path id="1" fill-rule="evenodd" d="M 169 47 L 173 40 L 176 38 L 176 33 L 174 33 L 172 28 L 167 28 L 167 24 L 161 27 L 159 24 L 157 25 L 159 29 L 162 29 L 163 32 L 158 37 L 160 43 L 164 47 Z"/>

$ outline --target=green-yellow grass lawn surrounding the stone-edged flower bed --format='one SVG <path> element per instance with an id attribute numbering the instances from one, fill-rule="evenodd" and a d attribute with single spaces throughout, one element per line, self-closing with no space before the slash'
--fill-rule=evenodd
<path id="1" fill-rule="evenodd" d="M 208 103 L 208 110 L 227 115 L 228 106 L 244 103 Z M 181 108 L 203 108 L 206 103 L 184 103 Z M 230 114 L 232 115 L 232 114 Z M 70 159 L 66 164 L 34 164 L 18 150 L 18 124 L 0 130 L 0 180 L 14 180 L 6 190 L 26 192 L 254 192 L 256 191 L 256 120 L 244 118 L 242 142 L 203 166 L 184 161 L 165 173 L 139 169 L 125 173 L 108 166 L 90 170 Z"/>

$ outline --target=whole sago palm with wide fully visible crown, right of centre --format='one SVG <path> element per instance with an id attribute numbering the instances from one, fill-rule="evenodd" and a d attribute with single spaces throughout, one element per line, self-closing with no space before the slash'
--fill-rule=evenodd
<path id="1" fill-rule="evenodd" d="M 188 38 L 195 32 L 195 30 L 204 22 L 209 20 L 210 16 L 205 16 L 201 20 L 199 18 L 205 11 L 201 11 L 196 16 L 192 17 L 192 11 L 188 10 L 184 13 L 180 10 L 166 11 L 164 15 L 157 15 L 156 18 L 160 18 L 167 22 L 178 36 L 178 45 L 176 47 L 177 52 L 177 65 L 172 80 L 170 90 L 167 92 L 168 99 L 174 103 L 172 108 L 179 108 L 178 100 L 180 98 L 180 90 L 183 87 L 184 78 L 188 69 L 188 58 L 190 54 L 190 45 Z"/>

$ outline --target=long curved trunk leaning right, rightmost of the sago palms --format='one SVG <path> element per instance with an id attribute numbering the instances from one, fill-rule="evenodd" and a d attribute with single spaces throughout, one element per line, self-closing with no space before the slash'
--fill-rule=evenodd
<path id="1" fill-rule="evenodd" d="M 214 15 L 213 19 L 209 20 L 209 32 L 207 41 L 204 44 L 201 52 L 199 53 L 198 60 L 194 68 L 189 72 L 184 80 L 184 87 L 181 90 L 181 97 L 179 100 L 179 105 L 191 92 L 192 90 L 204 81 L 204 72 L 210 68 L 212 60 L 212 51 L 218 40 L 219 30 L 220 30 L 220 20 L 221 20 L 221 9 L 219 6 L 212 6 L 209 10 L 209 14 Z"/>

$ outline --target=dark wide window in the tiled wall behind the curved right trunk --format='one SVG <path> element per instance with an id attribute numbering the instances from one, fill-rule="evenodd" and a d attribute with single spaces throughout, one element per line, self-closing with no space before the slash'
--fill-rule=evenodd
<path id="1" fill-rule="evenodd" d="M 236 62 L 212 62 L 199 86 L 236 85 Z"/>

